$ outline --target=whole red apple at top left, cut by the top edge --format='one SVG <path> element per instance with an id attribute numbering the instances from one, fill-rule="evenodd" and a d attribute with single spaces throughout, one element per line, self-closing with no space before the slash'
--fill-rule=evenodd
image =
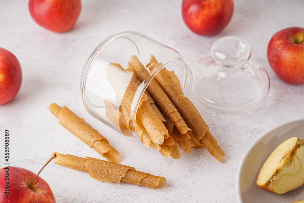
<path id="1" fill-rule="evenodd" d="M 81 0 L 29 0 L 29 12 L 38 25 L 56 33 L 71 30 L 81 11 Z"/>

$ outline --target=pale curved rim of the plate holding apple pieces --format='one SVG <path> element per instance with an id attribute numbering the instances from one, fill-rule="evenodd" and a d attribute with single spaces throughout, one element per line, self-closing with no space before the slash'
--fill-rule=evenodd
<path id="1" fill-rule="evenodd" d="M 241 169 L 243 168 L 243 165 L 244 165 L 244 161 L 245 159 L 247 158 L 249 152 L 251 152 L 251 150 L 254 148 L 255 145 L 257 145 L 258 142 L 260 142 L 263 138 L 265 138 L 267 135 L 269 135 L 271 132 L 277 130 L 278 128 L 281 128 L 282 126 L 285 126 L 285 125 L 289 125 L 289 124 L 293 124 L 293 123 L 296 123 L 296 122 L 301 122 L 301 121 L 304 121 L 304 118 L 299 118 L 299 119 L 296 119 L 296 120 L 293 120 L 293 121 L 289 121 L 287 123 L 283 123 L 275 128 L 272 128 L 271 130 L 267 131 L 266 133 L 264 133 L 263 135 L 261 135 L 259 138 L 257 138 L 256 141 L 254 141 L 254 143 L 252 143 L 252 145 L 250 145 L 250 147 L 247 149 L 247 151 L 245 152 L 243 158 L 241 159 L 241 162 L 240 162 L 240 165 L 239 165 L 239 168 L 237 170 L 237 201 L 239 203 L 244 203 L 241 199 L 242 195 L 239 195 L 239 187 L 240 187 L 240 172 L 241 172 Z"/>

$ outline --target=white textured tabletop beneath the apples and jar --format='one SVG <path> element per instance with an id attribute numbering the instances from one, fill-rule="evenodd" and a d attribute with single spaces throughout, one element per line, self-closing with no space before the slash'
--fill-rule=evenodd
<path id="1" fill-rule="evenodd" d="M 235 11 L 226 29 L 214 37 L 202 37 L 192 33 L 181 17 L 181 0 L 169 8 L 164 1 L 124 1 L 107 19 L 103 13 L 116 1 L 85 0 L 76 26 L 67 33 L 57 34 L 48 30 L 35 31 L 39 26 L 29 15 L 26 0 L 21 0 L 6 16 L 0 13 L 0 46 L 19 59 L 23 81 L 16 98 L 0 107 L 0 144 L 3 146 L 4 130 L 10 130 L 10 160 L 15 166 L 37 172 L 51 154 L 56 151 L 76 156 L 102 158 L 93 149 L 64 129 L 47 107 L 56 102 L 70 107 L 77 115 L 104 135 L 122 158 L 122 164 L 136 170 L 166 177 L 169 187 L 150 189 L 131 184 L 98 182 L 88 174 L 50 163 L 41 177 L 51 186 L 57 202 L 237 202 L 236 176 L 240 160 L 249 146 L 264 132 L 288 121 L 304 117 L 304 86 L 288 85 L 265 65 L 271 80 L 266 101 L 254 113 L 240 118 L 207 119 L 212 134 L 226 152 L 225 163 L 219 163 L 204 149 L 193 149 L 190 155 L 182 154 L 178 160 L 166 159 L 154 149 L 147 149 L 140 141 L 130 140 L 96 120 L 85 110 L 78 93 L 80 76 L 93 49 L 106 37 L 125 30 L 142 30 L 146 23 L 151 27 L 147 36 L 169 47 L 179 49 L 185 61 L 196 61 L 210 55 L 212 43 L 219 37 L 239 35 L 250 26 L 253 30 L 245 40 L 252 46 L 252 58 L 264 64 L 271 36 L 290 27 L 304 27 L 303 1 L 279 1 L 273 10 L 270 0 L 235 1 Z M 171 3 L 174 2 L 171 0 Z M 1 1 L 6 9 L 12 2 Z M 83 33 L 89 37 L 75 49 L 73 43 Z M 34 38 L 29 46 L 17 54 L 21 44 Z M 184 38 L 189 41 L 177 48 Z M 58 68 L 54 63 L 69 49 L 74 53 Z M 31 95 L 34 82 L 41 84 Z M 288 95 L 283 103 L 280 98 Z M 16 101 L 25 101 L 7 116 L 5 111 Z M 70 102 L 75 102 L 69 105 Z M 279 104 L 271 112 L 270 107 Z M 16 107 L 16 106 L 15 106 Z M 207 117 L 209 115 L 205 115 Z M 52 126 L 47 129 L 50 122 Z M 47 129 L 44 134 L 39 131 Z M 24 146 L 36 138 L 27 152 L 20 154 Z M 3 157 L 3 147 L 0 157 Z M 2 159 L 2 158 L 1 158 Z M 4 160 L 0 160 L 1 165 Z M 3 166 L 3 165 L 2 165 Z"/>

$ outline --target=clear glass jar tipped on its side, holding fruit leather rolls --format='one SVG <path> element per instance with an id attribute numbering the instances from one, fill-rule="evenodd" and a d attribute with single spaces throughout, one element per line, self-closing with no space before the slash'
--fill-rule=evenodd
<path id="1" fill-rule="evenodd" d="M 135 79 L 132 71 L 126 71 L 132 56 L 136 56 L 146 67 L 151 55 L 163 65 L 148 80 Z M 82 100 L 86 110 L 116 131 L 138 137 L 135 128 L 137 107 L 150 81 L 164 67 L 175 72 L 184 95 L 189 96 L 192 87 L 191 69 L 177 51 L 135 31 L 108 37 L 92 52 L 81 75 Z M 119 119 L 115 118 L 119 117 L 117 114 L 121 112 L 123 97 L 132 81 L 137 86 L 128 115 L 130 131 L 124 129 Z"/>

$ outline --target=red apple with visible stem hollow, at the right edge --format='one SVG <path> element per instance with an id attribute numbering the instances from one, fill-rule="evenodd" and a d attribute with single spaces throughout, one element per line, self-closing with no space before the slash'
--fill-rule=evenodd
<path id="1" fill-rule="evenodd" d="M 304 83 L 304 28 L 289 27 L 275 33 L 268 44 L 267 58 L 281 80 Z"/>

